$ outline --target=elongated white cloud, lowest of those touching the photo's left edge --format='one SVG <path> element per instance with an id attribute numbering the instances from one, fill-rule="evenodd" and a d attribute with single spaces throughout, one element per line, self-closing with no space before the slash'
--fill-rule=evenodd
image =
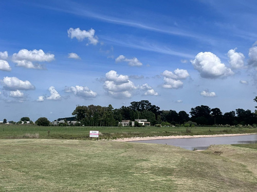
<path id="1" fill-rule="evenodd" d="M 4 77 L 1 80 L 4 89 L 6 90 L 33 90 L 35 87 L 28 81 L 22 81 L 17 77 Z"/>

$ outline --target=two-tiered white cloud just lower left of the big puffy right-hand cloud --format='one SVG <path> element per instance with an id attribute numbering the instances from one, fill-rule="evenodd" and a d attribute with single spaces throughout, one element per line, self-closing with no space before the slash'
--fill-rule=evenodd
<path id="1" fill-rule="evenodd" d="M 165 70 L 162 75 L 164 76 L 163 88 L 178 89 L 183 87 L 183 82 L 180 79 L 189 77 L 189 73 L 184 69 L 176 69 L 174 72 Z"/>

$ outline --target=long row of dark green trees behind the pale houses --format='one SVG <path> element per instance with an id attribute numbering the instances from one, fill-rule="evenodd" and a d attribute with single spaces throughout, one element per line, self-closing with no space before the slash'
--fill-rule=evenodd
<path id="1" fill-rule="evenodd" d="M 72 115 L 86 126 L 118 126 L 121 120 L 134 121 L 135 119 L 147 119 L 151 125 L 176 125 L 185 122 L 194 122 L 197 125 L 257 124 L 257 115 L 250 110 L 236 109 L 223 114 L 218 108 L 211 109 L 207 105 L 200 105 L 191 108 L 190 117 L 185 111 L 160 110 L 148 100 L 133 101 L 130 106 L 121 106 L 119 109 L 114 109 L 111 104 L 108 106 L 77 105 Z"/>

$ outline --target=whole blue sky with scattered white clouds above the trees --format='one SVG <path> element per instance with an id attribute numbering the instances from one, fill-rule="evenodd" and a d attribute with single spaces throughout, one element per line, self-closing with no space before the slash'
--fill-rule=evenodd
<path id="1" fill-rule="evenodd" d="M 257 2 L 3 1 L 0 120 L 77 105 L 254 112 Z"/>

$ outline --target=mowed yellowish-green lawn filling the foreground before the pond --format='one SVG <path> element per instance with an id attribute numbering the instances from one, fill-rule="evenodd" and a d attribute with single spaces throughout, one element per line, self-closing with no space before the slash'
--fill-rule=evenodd
<path id="1" fill-rule="evenodd" d="M 256 157 L 256 146 L 3 139 L 0 191 L 257 191 Z"/>

